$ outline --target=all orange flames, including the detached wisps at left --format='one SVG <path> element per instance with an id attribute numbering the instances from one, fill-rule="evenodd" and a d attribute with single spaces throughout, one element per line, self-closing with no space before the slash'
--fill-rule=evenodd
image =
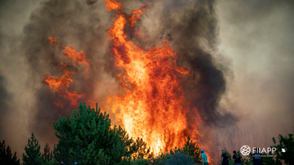
<path id="1" fill-rule="evenodd" d="M 140 21 L 140 16 L 149 11 L 147 6 L 143 4 L 139 9 L 131 10 L 131 16 L 127 18 L 123 14 L 122 2 L 105 0 L 105 3 L 106 10 L 115 12 L 113 26 L 107 30 L 112 42 L 110 49 L 116 59 L 114 65 L 123 70 L 123 73 L 116 75 L 118 90 L 114 95 L 106 97 L 108 110 L 115 114 L 115 120 L 123 124 L 130 137 L 143 138 L 155 154 L 160 149 L 168 152 L 175 146 L 182 146 L 188 135 L 198 142 L 197 124 L 201 119 L 197 108 L 186 101 L 181 87 L 181 81 L 191 77 L 190 72 L 178 66 L 178 55 L 168 40 L 157 41 L 155 44 L 160 46 L 146 50 L 129 40 L 125 34 L 125 31 L 129 31 L 137 40 L 145 40 L 140 37 L 136 21 Z M 126 27 L 126 24 L 129 26 Z M 82 50 L 76 51 L 72 46 L 58 46 L 54 37 L 49 37 L 49 40 L 50 45 L 64 49 L 66 61 L 71 60 L 73 67 L 76 64 L 83 65 L 84 81 L 87 81 L 90 69 L 86 53 Z M 64 75 L 60 78 L 45 74 L 43 83 L 59 96 L 54 104 L 65 109 L 60 100 L 63 98 L 73 106 L 80 100 L 85 100 L 93 107 L 94 102 L 84 93 L 77 94 L 68 90 L 70 84 L 74 83 L 70 76 L 74 71 L 67 70 L 67 66 L 65 62 L 58 64 L 60 69 L 64 69 Z M 188 127 L 189 114 L 194 115 L 195 122 Z"/>

